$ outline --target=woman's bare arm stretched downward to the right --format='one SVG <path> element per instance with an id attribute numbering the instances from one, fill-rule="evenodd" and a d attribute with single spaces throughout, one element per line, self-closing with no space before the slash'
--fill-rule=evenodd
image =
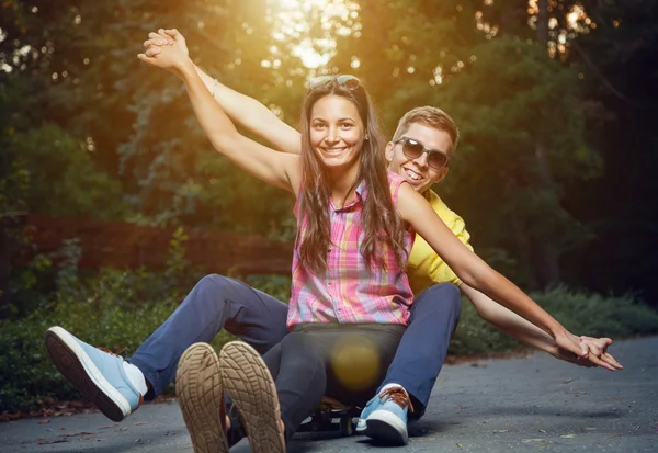
<path id="1" fill-rule="evenodd" d="M 570 333 L 512 282 L 464 246 L 427 200 L 409 184 L 402 184 L 400 188 L 398 212 L 468 286 L 480 291 L 540 327 L 555 339 L 558 347 L 579 356 L 589 354 L 587 347 L 580 344 L 578 337 Z M 601 360 L 592 354 L 589 354 L 589 358 L 597 365 L 602 365 Z"/>

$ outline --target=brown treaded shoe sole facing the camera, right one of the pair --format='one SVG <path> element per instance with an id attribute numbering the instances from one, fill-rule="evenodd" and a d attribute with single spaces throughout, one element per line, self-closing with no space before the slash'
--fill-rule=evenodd
<path id="1" fill-rule="evenodd" d="M 222 380 L 238 406 L 252 453 L 285 453 L 281 409 L 270 370 L 247 343 L 234 341 L 220 352 Z"/>

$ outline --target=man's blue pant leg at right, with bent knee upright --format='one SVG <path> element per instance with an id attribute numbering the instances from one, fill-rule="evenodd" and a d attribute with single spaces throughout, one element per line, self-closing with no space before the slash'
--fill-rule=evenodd
<path id="1" fill-rule="evenodd" d="M 461 314 L 460 290 L 452 283 L 430 286 L 411 305 L 409 326 L 377 390 L 404 386 L 413 404 L 411 419 L 424 414 Z"/>

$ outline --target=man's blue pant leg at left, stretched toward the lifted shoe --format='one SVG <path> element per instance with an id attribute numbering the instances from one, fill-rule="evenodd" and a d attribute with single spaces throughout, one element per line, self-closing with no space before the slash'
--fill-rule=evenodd
<path id="1" fill-rule="evenodd" d="M 281 301 L 237 280 L 206 275 L 128 362 L 150 383 L 146 399 L 152 399 L 173 381 L 191 344 L 211 342 L 225 328 L 263 354 L 288 332 L 286 316 Z"/>

